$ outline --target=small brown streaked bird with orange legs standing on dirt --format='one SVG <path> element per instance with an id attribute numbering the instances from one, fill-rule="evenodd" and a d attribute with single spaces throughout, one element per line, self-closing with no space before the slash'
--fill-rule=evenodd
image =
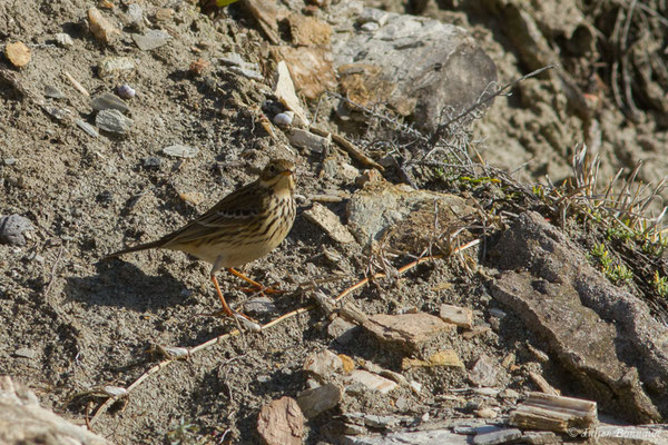
<path id="1" fill-rule="evenodd" d="M 259 178 L 223 198 L 206 214 L 157 241 L 119 250 L 107 258 L 153 248 L 181 250 L 213 264 L 212 281 L 223 310 L 234 313 L 225 301 L 216 273 L 229 273 L 258 289 L 264 287 L 234 267 L 261 258 L 276 248 L 295 221 L 295 165 L 285 159 L 271 160 Z"/>

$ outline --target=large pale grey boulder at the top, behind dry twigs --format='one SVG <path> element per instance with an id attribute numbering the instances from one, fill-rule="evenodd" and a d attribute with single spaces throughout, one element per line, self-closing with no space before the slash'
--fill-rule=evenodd
<path id="1" fill-rule="evenodd" d="M 494 62 L 463 28 L 370 8 L 357 22 L 361 31 L 342 23 L 333 33 L 335 66 L 374 67 L 365 81 L 383 87 L 366 88 L 376 95 L 370 101 L 413 115 L 424 130 L 436 128 L 443 109 L 468 108 L 497 80 Z"/>

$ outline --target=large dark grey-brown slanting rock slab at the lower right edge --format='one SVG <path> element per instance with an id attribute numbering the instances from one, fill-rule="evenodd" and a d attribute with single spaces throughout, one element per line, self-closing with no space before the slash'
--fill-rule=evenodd
<path id="1" fill-rule="evenodd" d="M 668 405 L 660 389 L 668 387 L 668 327 L 642 300 L 611 285 L 536 212 L 520 215 L 490 259 L 504 269 L 490 283 L 492 296 L 546 339 L 588 398 L 633 423 L 668 416 L 657 411 Z"/>

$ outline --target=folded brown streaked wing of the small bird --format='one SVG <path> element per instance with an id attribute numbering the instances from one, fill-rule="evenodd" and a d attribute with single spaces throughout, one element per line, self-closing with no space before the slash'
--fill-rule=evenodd
<path id="1" fill-rule="evenodd" d="M 265 196 L 255 182 L 248 184 L 223 198 L 207 212 L 180 229 L 165 236 L 164 247 L 196 241 L 216 234 L 234 235 L 257 218 L 265 206 Z"/>

